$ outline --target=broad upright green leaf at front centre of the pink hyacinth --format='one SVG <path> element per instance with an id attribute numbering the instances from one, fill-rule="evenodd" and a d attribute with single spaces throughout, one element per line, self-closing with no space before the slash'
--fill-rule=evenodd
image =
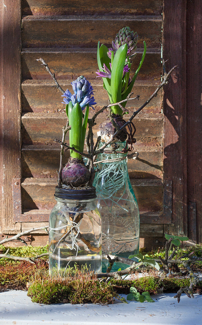
<path id="1" fill-rule="evenodd" d="M 122 78 L 127 51 L 128 46 L 125 44 L 120 46 L 114 55 L 111 77 L 111 95 L 113 103 L 121 101 Z M 112 110 L 114 114 L 122 115 L 122 109 L 118 105 L 112 106 Z"/>

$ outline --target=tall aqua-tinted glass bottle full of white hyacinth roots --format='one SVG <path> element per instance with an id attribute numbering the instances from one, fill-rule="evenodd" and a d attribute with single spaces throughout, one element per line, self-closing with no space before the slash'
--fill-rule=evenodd
<path id="1" fill-rule="evenodd" d="M 125 142 L 117 142 L 117 151 Z M 109 151 L 110 146 L 106 147 Z M 97 157 L 99 171 L 93 185 L 96 187 L 97 207 L 102 216 L 102 252 L 128 257 L 139 251 L 139 209 L 131 186 L 126 153 L 102 153 Z M 118 161 L 111 161 L 119 158 Z M 108 262 L 102 260 L 102 272 Z M 126 265 L 114 263 L 113 271 Z"/>

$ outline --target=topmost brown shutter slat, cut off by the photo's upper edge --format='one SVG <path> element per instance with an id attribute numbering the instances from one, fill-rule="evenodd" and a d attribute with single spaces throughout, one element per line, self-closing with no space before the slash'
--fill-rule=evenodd
<path id="1" fill-rule="evenodd" d="M 23 15 L 161 15 L 161 0 L 22 0 Z"/>

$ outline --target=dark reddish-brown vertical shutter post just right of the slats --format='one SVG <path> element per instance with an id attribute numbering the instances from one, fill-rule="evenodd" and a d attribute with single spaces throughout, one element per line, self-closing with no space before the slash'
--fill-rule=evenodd
<path id="1" fill-rule="evenodd" d="M 172 180 L 169 232 L 187 235 L 186 1 L 163 1 L 162 55 L 172 72 L 163 89 L 163 177 Z"/>

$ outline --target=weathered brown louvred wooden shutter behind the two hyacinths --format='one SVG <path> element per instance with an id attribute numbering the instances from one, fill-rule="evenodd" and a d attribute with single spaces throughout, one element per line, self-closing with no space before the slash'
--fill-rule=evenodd
<path id="1" fill-rule="evenodd" d="M 71 88 L 72 80 L 81 74 L 85 75 L 94 87 L 99 109 L 108 102 L 108 99 L 101 80 L 96 78 L 95 74 L 98 69 L 97 42 L 100 40 L 101 43 L 110 46 L 116 32 L 124 26 L 130 26 L 139 35 L 137 57 L 134 59 L 132 72 L 136 70 L 141 58 L 143 41 L 147 43 L 145 61 L 133 89 L 134 94 L 141 97 L 138 102 L 129 103 L 130 115 L 153 93 L 160 81 L 162 3 L 160 0 L 120 2 L 103 0 L 94 3 L 88 0 L 74 2 L 22 0 L 21 35 L 20 2 L 15 1 L 15 4 L 9 5 L 9 1 L 4 1 L 4 4 L 7 6 L 6 9 L 3 7 L 4 17 L 9 15 L 10 21 L 8 19 L 7 22 L 6 20 L 2 22 L 5 34 L 4 42 L 1 42 L 3 50 L 1 61 L 6 65 L 2 79 L 4 87 L 1 89 L 6 94 L 2 110 L 4 147 L 1 162 L 2 166 L 4 164 L 6 167 L 2 169 L 4 203 L 1 232 L 11 234 L 20 229 L 34 227 L 36 223 L 37 226 L 47 223 L 49 211 L 54 205 L 53 194 L 57 182 L 56 170 L 59 168 L 60 148 L 52 139 L 61 138 L 66 115 L 64 105 L 61 104 L 60 91 L 51 87 L 54 85 L 53 80 L 36 59 L 42 57 L 48 63 L 63 89 Z M 165 12 L 168 15 L 166 19 L 170 17 L 169 10 L 172 12 L 173 9 L 166 2 Z M 175 16 L 177 17 L 177 13 Z M 168 28 L 166 19 L 165 24 Z M 9 24 L 13 22 L 16 25 L 10 28 Z M 180 27 L 180 31 L 183 32 L 183 26 Z M 6 43 L 6 28 L 12 30 L 9 34 L 10 43 Z M 167 36 L 171 39 L 170 35 Z M 175 40 L 176 46 L 179 46 L 177 42 L 180 41 L 182 42 L 183 38 Z M 172 57 L 171 51 L 168 51 L 168 44 L 170 43 L 163 44 L 165 59 L 169 55 Z M 182 52 L 178 55 L 182 55 Z M 172 58 L 171 61 L 173 60 Z M 178 61 L 174 60 L 171 64 Z M 21 100 L 18 95 L 20 81 L 22 81 Z M 179 91 L 182 88 L 183 85 L 179 85 Z M 164 103 L 166 107 L 168 104 L 165 94 Z M 169 166 L 164 167 L 166 174 L 163 179 L 163 146 L 172 143 L 172 133 L 169 135 L 167 133 L 169 117 L 166 112 L 162 116 L 161 104 L 162 98 L 159 93 L 158 97 L 137 115 L 135 151 L 139 152 L 139 157 L 135 161 L 129 160 L 128 163 L 131 183 L 140 209 L 142 238 L 140 244 L 147 247 L 159 246 L 163 233 L 168 231 L 168 225 L 172 226 L 173 221 L 177 223 L 176 212 L 172 219 L 173 177 L 172 170 L 168 172 Z M 105 119 L 105 116 L 106 114 L 100 115 L 97 125 Z M 166 134 L 164 141 L 162 141 L 162 125 Z M 165 152 L 164 154 L 166 155 Z M 175 181 L 176 179 L 175 175 Z M 178 196 L 181 193 L 182 188 Z M 182 223 L 186 222 L 183 216 L 180 220 Z M 186 233 L 186 228 L 187 224 L 174 229 L 179 233 Z M 172 232 L 172 229 L 173 227 L 170 227 L 169 231 Z M 47 240 L 47 235 L 34 234 L 27 240 L 34 245 L 43 244 Z"/>

